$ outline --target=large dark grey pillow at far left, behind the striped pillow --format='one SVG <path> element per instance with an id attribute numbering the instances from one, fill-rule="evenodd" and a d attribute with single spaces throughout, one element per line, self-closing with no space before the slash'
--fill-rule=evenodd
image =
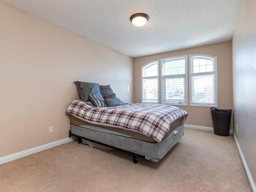
<path id="1" fill-rule="evenodd" d="M 94 94 L 102 96 L 99 90 L 98 83 L 95 82 L 81 82 L 75 81 L 76 88 L 79 94 L 80 99 L 83 101 L 89 101 L 89 94 Z"/>

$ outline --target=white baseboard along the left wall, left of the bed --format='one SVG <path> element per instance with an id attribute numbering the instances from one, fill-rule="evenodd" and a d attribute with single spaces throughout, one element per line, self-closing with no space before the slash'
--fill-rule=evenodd
<path id="1" fill-rule="evenodd" d="M 0 165 L 4 164 L 4 163 L 7 163 L 7 162 L 10 162 L 10 161 L 13 161 L 13 160 L 16 160 L 16 159 L 19 159 L 19 158 L 26 157 L 28 155 L 32 155 L 34 153 L 38 153 L 38 152 L 47 150 L 48 148 L 52 148 L 52 147 L 55 147 L 55 146 L 58 146 L 58 145 L 61 145 L 61 144 L 64 144 L 64 143 L 68 143 L 70 141 L 73 141 L 73 138 L 70 137 L 70 138 L 61 139 L 61 140 L 54 141 L 54 142 L 51 142 L 51 143 L 47 143 L 47 144 L 44 144 L 44 145 L 40 145 L 40 146 L 37 146 L 37 147 L 34 147 L 34 148 L 30 148 L 29 150 L 25 150 L 25 151 L 22 151 L 22 152 L 18 152 L 18 153 L 14 153 L 14 154 L 11 154 L 11 155 L 4 156 L 4 157 L 0 157 Z"/>

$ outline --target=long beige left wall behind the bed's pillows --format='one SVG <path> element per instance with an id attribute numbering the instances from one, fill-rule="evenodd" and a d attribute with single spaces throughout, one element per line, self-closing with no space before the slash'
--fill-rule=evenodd
<path id="1" fill-rule="evenodd" d="M 0 157 L 68 137 L 73 81 L 132 101 L 133 58 L 2 3 L 0 26 Z"/>

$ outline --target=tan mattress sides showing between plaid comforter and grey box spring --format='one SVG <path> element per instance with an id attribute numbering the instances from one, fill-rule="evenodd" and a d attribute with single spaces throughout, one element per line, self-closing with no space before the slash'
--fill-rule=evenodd
<path id="1" fill-rule="evenodd" d="M 168 135 L 170 135 L 184 121 L 185 121 L 185 117 L 179 118 L 176 121 L 174 121 L 170 125 L 169 131 L 168 131 L 168 134 L 166 135 L 166 137 Z M 81 120 L 81 119 L 79 119 L 79 118 L 77 118 L 73 115 L 70 115 L 70 124 L 78 125 L 80 127 L 84 127 L 84 128 L 95 130 L 95 131 L 100 131 L 100 132 L 103 132 L 103 133 L 110 133 L 110 134 L 115 134 L 115 135 L 119 135 L 119 136 L 123 136 L 123 137 L 130 137 L 130 138 L 138 139 L 138 140 L 141 140 L 141 141 L 152 142 L 152 143 L 157 142 L 152 137 L 147 137 L 147 136 L 145 136 L 141 133 L 138 133 L 138 132 L 125 130 L 125 129 L 112 127 L 112 126 L 102 126 L 102 125 L 92 124 L 92 123 L 86 122 L 84 120 Z"/>

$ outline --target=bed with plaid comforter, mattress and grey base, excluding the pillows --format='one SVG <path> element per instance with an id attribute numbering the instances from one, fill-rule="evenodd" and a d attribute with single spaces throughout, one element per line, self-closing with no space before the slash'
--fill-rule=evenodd
<path id="1" fill-rule="evenodd" d="M 126 103 L 96 108 L 75 100 L 70 114 L 70 136 L 158 162 L 183 136 L 187 112 L 172 105 Z"/>

